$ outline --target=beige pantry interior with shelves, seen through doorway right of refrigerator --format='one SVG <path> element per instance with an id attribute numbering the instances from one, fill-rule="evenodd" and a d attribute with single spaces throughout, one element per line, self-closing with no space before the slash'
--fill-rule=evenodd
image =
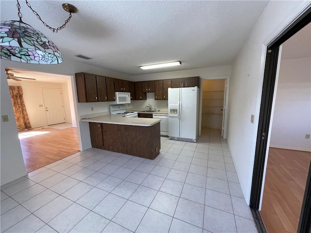
<path id="1" fill-rule="evenodd" d="M 202 128 L 222 129 L 225 79 L 204 80 L 202 91 Z"/>

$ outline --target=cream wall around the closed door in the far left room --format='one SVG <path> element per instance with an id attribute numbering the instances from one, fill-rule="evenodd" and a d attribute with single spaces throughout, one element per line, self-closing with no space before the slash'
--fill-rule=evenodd
<path id="1" fill-rule="evenodd" d="M 44 109 L 42 88 L 62 89 L 64 109 L 67 122 L 71 122 L 70 104 L 67 83 L 44 83 L 33 81 L 9 81 L 9 85 L 19 85 L 23 89 L 23 99 L 32 128 L 47 126 L 48 121 Z M 39 107 L 39 105 L 42 105 Z"/>

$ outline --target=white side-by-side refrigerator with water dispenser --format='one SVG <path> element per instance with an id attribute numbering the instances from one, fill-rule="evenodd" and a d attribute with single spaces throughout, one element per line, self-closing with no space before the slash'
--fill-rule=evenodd
<path id="1" fill-rule="evenodd" d="M 169 88 L 170 139 L 196 142 L 199 118 L 199 88 Z"/>

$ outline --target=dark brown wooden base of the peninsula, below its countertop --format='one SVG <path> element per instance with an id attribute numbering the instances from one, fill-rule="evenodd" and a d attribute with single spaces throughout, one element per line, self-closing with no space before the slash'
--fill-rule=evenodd
<path id="1" fill-rule="evenodd" d="M 98 135 L 99 124 L 102 135 Z M 90 134 L 93 137 L 97 135 L 97 140 L 102 140 L 103 143 L 103 147 L 98 147 L 100 145 L 98 142 L 92 143 L 92 147 L 145 159 L 155 159 L 160 152 L 160 123 L 152 126 L 132 126 L 90 122 L 89 125 Z M 94 138 L 93 140 L 95 141 Z"/>

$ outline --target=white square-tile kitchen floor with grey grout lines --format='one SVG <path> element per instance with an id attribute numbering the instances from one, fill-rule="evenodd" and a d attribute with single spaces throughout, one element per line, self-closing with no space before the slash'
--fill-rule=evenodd
<path id="1" fill-rule="evenodd" d="M 1 232 L 257 232 L 218 130 L 161 143 L 155 160 L 93 148 L 1 186 Z"/>

